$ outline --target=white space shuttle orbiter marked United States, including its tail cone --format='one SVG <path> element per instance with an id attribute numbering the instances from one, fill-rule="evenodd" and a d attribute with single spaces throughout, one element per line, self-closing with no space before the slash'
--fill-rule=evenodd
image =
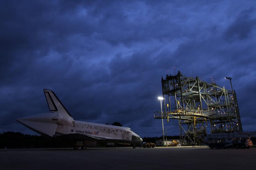
<path id="1" fill-rule="evenodd" d="M 74 121 L 53 91 L 44 89 L 44 94 L 51 113 L 17 119 L 22 125 L 38 134 L 82 142 L 82 149 L 97 142 L 129 143 L 133 148 L 142 142 L 142 138 L 128 127 Z M 74 145 L 74 149 L 77 148 L 78 145 Z"/>

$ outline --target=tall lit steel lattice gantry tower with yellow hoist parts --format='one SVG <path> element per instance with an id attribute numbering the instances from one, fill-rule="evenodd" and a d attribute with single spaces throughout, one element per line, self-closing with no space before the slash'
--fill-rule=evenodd
<path id="1" fill-rule="evenodd" d="M 242 131 L 239 110 L 235 108 L 236 93 L 225 87 L 201 81 L 198 76 L 185 77 L 179 71 L 162 77 L 162 93 L 164 111 L 155 112 L 154 118 L 178 119 L 181 141 L 200 144 L 208 126 L 212 134 Z"/>

